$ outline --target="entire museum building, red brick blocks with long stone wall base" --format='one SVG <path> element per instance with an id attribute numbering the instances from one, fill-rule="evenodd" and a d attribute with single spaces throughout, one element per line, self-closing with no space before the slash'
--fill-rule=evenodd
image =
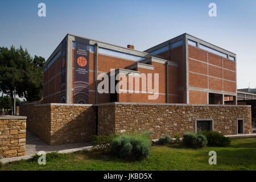
<path id="1" fill-rule="evenodd" d="M 48 144 L 137 131 L 251 134 L 236 80 L 234 53 L 188 34 L 143 52 L 68 34 L 44 64 L 43 101 L 20 104 L 20 115 Z"/>

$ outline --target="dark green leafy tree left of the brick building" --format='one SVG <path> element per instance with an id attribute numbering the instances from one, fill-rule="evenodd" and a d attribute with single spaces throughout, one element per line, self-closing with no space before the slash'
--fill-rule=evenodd
<path id="1" fill-rule="evenodd" d="M 42 97 L 44 58 L 30 56 L 27 49 L 0 47 L 0 89 L 11 97 L 14 106 L 14 89 L 27 101 Z"/>

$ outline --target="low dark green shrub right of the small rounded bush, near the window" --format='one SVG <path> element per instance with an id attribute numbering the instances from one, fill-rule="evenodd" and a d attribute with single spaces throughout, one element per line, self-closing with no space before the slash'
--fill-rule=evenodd
<path id="1" fill-rule="evenodd" d="M 199 134 L 205 135 L 209 146 L 225 147 L 231 143 L 230 138 L 225 137 L 222 133 L 217 131 L 201 131 Z"/>

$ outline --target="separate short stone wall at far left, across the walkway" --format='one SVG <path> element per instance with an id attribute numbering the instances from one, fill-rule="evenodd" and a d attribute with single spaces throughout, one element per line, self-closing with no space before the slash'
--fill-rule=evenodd
<path id="1" fill-rule="evenodd" d="M 0 117 L 0 154 L 3 158 L 25 155 L 26 117 Z"/>

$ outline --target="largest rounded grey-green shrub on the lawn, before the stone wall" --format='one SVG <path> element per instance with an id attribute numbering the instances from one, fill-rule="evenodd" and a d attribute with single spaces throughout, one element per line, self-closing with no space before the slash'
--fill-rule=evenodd
<path id="1" fill-rule="evenodd" d="M 114 154 L 120 158 L 137 157 L 146 158 L 150 155 L 151 140 L 150 133 L 120 135 L 110 142 Z"/>

